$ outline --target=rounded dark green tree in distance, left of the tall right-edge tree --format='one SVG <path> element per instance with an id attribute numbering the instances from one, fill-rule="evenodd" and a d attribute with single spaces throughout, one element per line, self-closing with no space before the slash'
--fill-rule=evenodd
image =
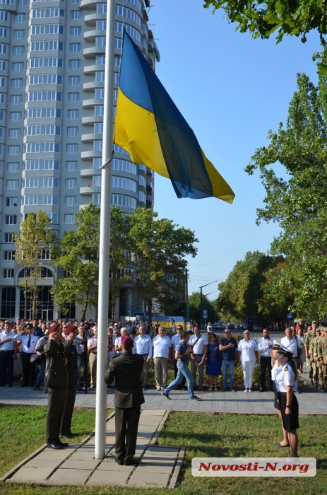
<path id="1" fill-rule="evenodd" d="M 280 259 L 259 251 L 246 252 L 244 260 L 235 264 L 225 282 L 218 284 L 220 293 L 217 305 L 223 319 L 242 322 L 248 316 L 265 318 L 260 305 L 266 282 L 265 272 L 278 262 Z"/>

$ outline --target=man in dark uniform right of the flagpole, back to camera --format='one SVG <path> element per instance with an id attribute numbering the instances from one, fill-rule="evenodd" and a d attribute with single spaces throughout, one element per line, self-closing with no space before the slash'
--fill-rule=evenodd
<path id="1" fill-rule="evenodd" d="M 105 383 L 116 381 L 114 395 L 116 426 L 116 462 L 129 466 L 136 464 L 133 458 L 138 434 L 141 404 L 144 402 L 141 373 L 143 356 L 132 354 L 133 339 L 121 337 L 122 354 L 114 356 L 105 374 Z"/>

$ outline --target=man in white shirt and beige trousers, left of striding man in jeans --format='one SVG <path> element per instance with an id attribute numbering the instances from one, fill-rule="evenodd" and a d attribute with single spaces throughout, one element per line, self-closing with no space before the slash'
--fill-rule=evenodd
<path id="1" fill-rule="evenodd" d="M 164 390 L 168 385 L 168 364 L 172 362 L 172 342 L 165 327 L 159 327 L 153 339 L 153 362 L 155 365 L 155 388 Z"/>

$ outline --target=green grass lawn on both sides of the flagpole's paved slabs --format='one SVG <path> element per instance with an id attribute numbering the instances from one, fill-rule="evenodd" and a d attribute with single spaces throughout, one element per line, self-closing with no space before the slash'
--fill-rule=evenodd
<path id="1" fill-rule="evenodd" d="M 0 475 L 44 443 L 44 407 L 0 407 Z M 95 413 L 80 409 L 73 414 L 73 431 L 80 440 L 94 428 Z M 283 457 L 288 450 L 275 447 L 280 441 L 280 421 L 275 416 L 212 415 L 173 412 L 159 438 L 160 445 L 186 445 L 182 478 L 174 495 L 295 495 L 327 493 L 326 418 L 300 418 L 299 455 L 317 459 L 315 478 L 194 478 L 193 457 Z M 1 495 L 133 495 L 138 489 L 121 487 L 38 487 L 0 484 Z M 144 490 L 143 490 L 144 492 Z M 163 495 L 149 489 L 147 495 Z"/>

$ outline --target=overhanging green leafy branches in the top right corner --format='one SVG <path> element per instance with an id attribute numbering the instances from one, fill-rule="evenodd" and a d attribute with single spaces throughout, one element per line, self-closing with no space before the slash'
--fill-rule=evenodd
<path id="1" fill-rule="evenodd" d="M 318 30 L 322 42 L 327 32 L 327 1 L 325 0 L 204 0 L 204 7 L 213 11 L 222 8 L 230 23 L 237 23 L 241 33 L 249 31 L 254 38 L 268 38 L 277 31 L 276 40 L 284 35 L 302 36 L 307 41 L 307 33 Z"/>

